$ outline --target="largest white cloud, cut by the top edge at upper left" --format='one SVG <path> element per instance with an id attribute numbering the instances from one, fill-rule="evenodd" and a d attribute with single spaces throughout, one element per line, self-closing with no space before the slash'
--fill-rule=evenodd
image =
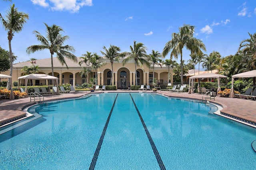
<path id="1" fill-rule="evenodd" d="M 49 6 L 46 0 L 31 0 L 33 4 L 40 5 L 43 7 Z M 92 0 L 49 0 L 52 6 L 50 7 L 53 11 L 67 10 L 70 12 L 78 12 L 83 6 L 93 6 Z"/>

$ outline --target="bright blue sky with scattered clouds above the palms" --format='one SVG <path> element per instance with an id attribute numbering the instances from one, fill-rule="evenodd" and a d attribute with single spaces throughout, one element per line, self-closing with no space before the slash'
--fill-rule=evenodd
<path id="1" fill-rule="evenodd" d="M 249 38 L 248 32 L 256 32 L 255 0 L 0 0 L 2 16 L 13 3 L 29 15 L 12 39 L 12 51 L 18 56 L 14 63 L 50 58 L 48 50 L 26 54 L 27 47 L 40 44 L 32 31 L 46 35 L 44 23 L 64 29 L 63 35 L 70 37 L 64 45 L 73 46 L 77 57 L 86 51 L 101 55 L 102 47 L 110 44 L 130 52 L 134 41 L 143 43 L 148 54 L 152 49 L 162 53 L 183 24 L 196 26 L 194 36 L 206 45 L 205 54 L 218 51 L 226 57 L 236 53 L 240 42 Z M 3 27 L 0 46 L 9 50 Z M 190 52 L 184 49 L 183 53 L 184 60 L 190 59 Z"/>

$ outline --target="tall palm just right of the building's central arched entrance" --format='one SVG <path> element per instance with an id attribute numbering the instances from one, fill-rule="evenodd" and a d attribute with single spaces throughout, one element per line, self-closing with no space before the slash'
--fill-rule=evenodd
<path id="1" fill-rule="evenodd" d="M 148 62 L 148 55 L 146 54 L 146 47 L 143 43 L 136 43 L 134 41 L 133 47 L 130 45 L 130 53 L 126 53 L 126 58 L 122 61 L 123 65 L 126 64 L 130 60 L 134 60 L 135 64 L 135 85 L 138 85 L 137 82 L 137 66 L 141 66 L 143 68 L 143 64 L 150 66 Z"/>

